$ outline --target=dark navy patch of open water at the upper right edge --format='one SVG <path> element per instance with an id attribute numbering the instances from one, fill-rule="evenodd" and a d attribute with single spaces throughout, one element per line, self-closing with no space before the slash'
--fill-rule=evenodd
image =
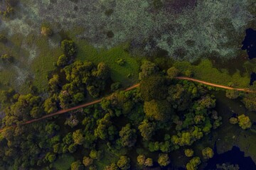
<path id="1" fill-rule="evenodd" d="M 247 50 L 250 60 L 256 57 L 256 31 L 248 28 L 246 31 L 245 40 L 242 42 L 242 50 Z"/>

